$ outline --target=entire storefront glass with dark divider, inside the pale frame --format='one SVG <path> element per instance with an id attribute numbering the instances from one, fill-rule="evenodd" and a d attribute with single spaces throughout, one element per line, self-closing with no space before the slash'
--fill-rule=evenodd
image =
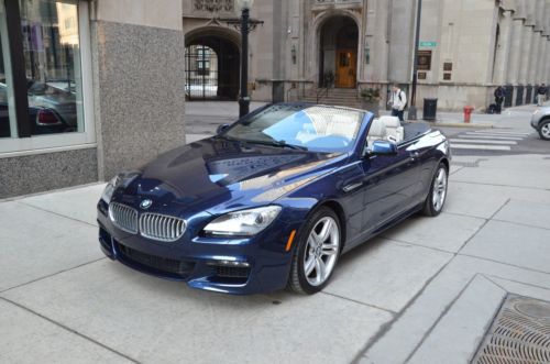
<path id="1" fill-rule="evenodd" d="M 10 10 L 8 1 L 11 0 L 0 0 L 0 137 L 84 133 L 79 7 L 87 3 L 19 0 L 19 9 L 16 5 L 14 9 L 20 26 L 10 27 L 13 5 Z M 10 47 L 13 32 L 21 32 L 14 37 L 21 42 Z M 13 80 L 10 80 L 9 66 L 10 59 L 13 64 L 15 58 L 10 57 L 10 49 L 19 52 L 19 59 L 23 60 L 21 75 Z M 20 88 L 19 93 L 13 92 L 13 82 Z M 26 100 L 18 99 L 25 92 Z M 12 104 L 18 102 L 25 106 L 26 113 L 22 112 L 25 109 Z"/>

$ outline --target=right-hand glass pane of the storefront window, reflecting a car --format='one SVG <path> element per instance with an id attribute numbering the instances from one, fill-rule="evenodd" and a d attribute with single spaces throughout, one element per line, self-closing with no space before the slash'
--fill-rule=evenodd
<path id="1" fill-rule="evenodd" d="M 77 4 L 20 0 L 31 135 L 84 131 Z M 79 120 L 80 119 L 80 120 Z"/>

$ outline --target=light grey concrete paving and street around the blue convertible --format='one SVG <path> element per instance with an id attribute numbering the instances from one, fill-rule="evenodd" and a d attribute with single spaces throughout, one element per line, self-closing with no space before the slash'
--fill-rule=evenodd
<path id="1" fill-rule="evenodd" d="M 188 141 L 234 119 L 202 107 Z M 468 363 L 508 294 L 550 300 L 550 142 L 528 114 L 438 126 L 473 145 L 443 213 L 350 252 L 315 296 L 198 291 L 105 258 L 102 184 L 1 201 L 0 363 Z"/>

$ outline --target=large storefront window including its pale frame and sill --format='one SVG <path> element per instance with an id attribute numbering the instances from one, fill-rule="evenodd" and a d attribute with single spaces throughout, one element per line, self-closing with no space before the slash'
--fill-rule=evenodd
<path id="1" fill-rule="evenodd" d="M 0 153 L 95 142 L 87 3 L 0 3 Z"/>

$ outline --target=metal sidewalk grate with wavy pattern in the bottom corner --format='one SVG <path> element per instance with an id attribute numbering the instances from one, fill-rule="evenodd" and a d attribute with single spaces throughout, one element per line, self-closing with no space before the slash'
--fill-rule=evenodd
<path id="1" fill-rule="evenodd" d="M 472 363 L 550 363 L 550 302 L 508 296 Z"/>

